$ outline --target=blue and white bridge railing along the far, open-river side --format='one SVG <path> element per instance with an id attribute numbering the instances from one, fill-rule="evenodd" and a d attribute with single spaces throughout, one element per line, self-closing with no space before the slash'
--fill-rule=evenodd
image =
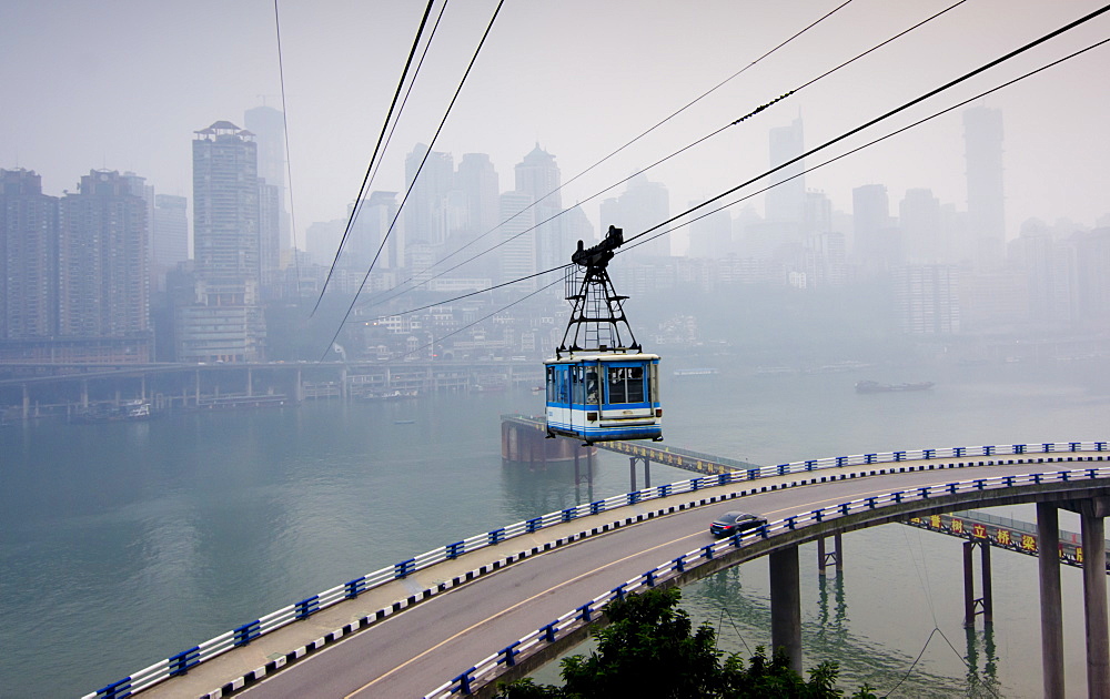
<path id="1" fill-rule="evenodd" d="M 778 464 L 775 466 L 753 467 L 741 470 L 733 470 L 712 476 L 702 476 L 688 480 L 664 484 L 633 493 L 614 495 L 602 500 L 584 503 L 575 507 L 547 513 L 532 519 L 525 519 L 515 524 L 498 527 L 490 531 L 472 536 L 466 539 L 453 541 L 445 546 L 432 549 L 418 556 L 397 561 L 392 566 L 386 566 L 373 573 L 360 576 L 343 585 L 326 589 L 317 595 L 313 595 L 297 602 L 283 607 L 264 617 L 260 617 L 243 624 L 230 631 L 224 631 L 220 636 L 194 646 L 189 650 L 160 660 L 148 668 L 139 670 L 129 677 L 107 685 L 95 692 L 82 697 L 82 699 L 117 699 L 129 693 L 147 689 L 162 680 L 179 675 L 184 675 L 196 665 L 211 660 L 212 658 L 236 648 L 245 646 L 260 636 L 282 628 L 293 621 L 307 618 L 313 614 L 339 604 L 344 599 L 355 598 L 363 592 L 385 585 L 393 580 L 404 579 L 414 573 L 434 566 L 444 560 L 450 560 L 463 554 L 475 551 L 487 546 L 495 546 L 502 541 L 514 537 L 533 534 L 539 529 L 572 521 L 578 517 L 597 515 L 609 509 L 635 505 L 645 500 L 679 495 L 684 493 L 695 493 L 703 488 L 713 486 L 725 486 L 747 480 L 771 476 L 785 476 L 804 472 L 814 472 L 844 466 L 860 466 L 871 464 L 890 464 L 909 460 L 930 459 L 966 459 L 968 463 L 986 464 L 997 463 L 1000 457 L 1020 455 L 1029 460 L 1037 455 L 1048 455 L 1057 453 L 1074 452 L 1110 452 L 1107 442 L 1056 442 L 1038 444 L 1013 444 L 1013 445 L 990 445 L 978 447 L 941 447 L 932 449 L 914 449 L 907 452 L 886 452 L 876 454 L 857 454 L 852 456 L 837 456 L 830 458 L 810 459 L 805 462 L 791 462 L 789 464 Z"/>

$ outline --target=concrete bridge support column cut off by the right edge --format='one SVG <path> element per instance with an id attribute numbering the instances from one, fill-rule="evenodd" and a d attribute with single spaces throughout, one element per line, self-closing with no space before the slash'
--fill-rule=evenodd
<path id="1" fill-rule="evenodd" d="M 1107 634 L 1107 545 L 1108 502 L 1083 500 L 1083 609 L 1087 615 L 1087 696 L 1110 699 L 1110 636 Z"/>

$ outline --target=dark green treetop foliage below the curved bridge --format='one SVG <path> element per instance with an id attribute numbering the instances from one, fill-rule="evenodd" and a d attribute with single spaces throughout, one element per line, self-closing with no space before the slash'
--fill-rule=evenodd
<path id="1" fill-rule="evenodd" d="M 597 650 L 563 659 L 565 685 L 536 685 L 531 678 L 503 685 L 501 699 L 833 699 L 838 668 L 823 662 L 809 680 L 790 669 L 784 654 L 768 658 L 763 647 L 747 661 L 716 649 L 708 624 L 694 628 L 678 607 L 682 590 L 653 589 L 629 595 L 606 608 L 609 626 L 595 634 Z M 866 685 L 851 699 L 875 699 Z"/>

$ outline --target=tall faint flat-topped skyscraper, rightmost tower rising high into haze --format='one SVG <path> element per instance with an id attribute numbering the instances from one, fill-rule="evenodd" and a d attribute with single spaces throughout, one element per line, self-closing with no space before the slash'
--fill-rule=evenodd
<path id="1" fill-rule="evenodd" d="M 1002 112 L 977 107 L 963 112 L 968 219 L 980 270 L 1002 265 L 1006 202 L 1002 186 Z"/>

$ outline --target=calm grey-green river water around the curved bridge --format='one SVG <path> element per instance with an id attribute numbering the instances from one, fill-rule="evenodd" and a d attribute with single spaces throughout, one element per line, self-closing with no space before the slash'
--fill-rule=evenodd
<path id="1" fill-rule="evenodd" d="M 719 368 L 665 371 L 668 444 L 773 464 L 1108 436 L 1110 385 L 1094 378 L 1106 361 L 866 376 Z M 937 385 L 856 394 L 865 377 Z M 628 462 L 612 454 L 592 486 L 576 486 L 569 465 L 503 464 L 498 416 L 541 409 L 519 391 L 0 428 L 0 697 L 80 696 L 414 554 L 628 489 Z M 653 484 L 689 476 L 652 467 Z M 996 514 L 1033 520 L 1031 506 Z M 1078 521 L 1061 515 L 1061 527 Z M 1040 695 L 1036 559 L 995 553 L 993 629 L 966 634 L 959 540 L 888 525 L 844 543 L 842 578 L 825 582 L 816 547 L 801 548 L 807 667 L 836 660 L 846 686 L 895 697 Z M 1064 568 L 1063 586 L 1078 697 L 1079 570 Z M 723 649 L 769 642 L 765 561 L 684 595 Z"/>

